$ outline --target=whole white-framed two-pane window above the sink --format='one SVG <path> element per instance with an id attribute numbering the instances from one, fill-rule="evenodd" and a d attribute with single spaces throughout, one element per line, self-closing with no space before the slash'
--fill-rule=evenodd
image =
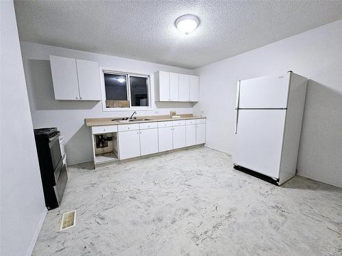
<path id="1" fill-rule="evenodd" d="M 147 75 L 103 70 L 104 109 L 149 109 L 150 79 Z"/>

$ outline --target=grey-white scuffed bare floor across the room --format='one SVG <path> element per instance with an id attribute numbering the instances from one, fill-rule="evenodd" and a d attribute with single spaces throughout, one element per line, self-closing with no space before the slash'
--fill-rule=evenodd
<path id="1" fill-rule="evenodd" d="M 296 176 L 280 187 L 198 147 L 68 169 L 33 255 L 342 255 L 342 189 Z M 76 227 L 60 232 L 62 213 Z"/>

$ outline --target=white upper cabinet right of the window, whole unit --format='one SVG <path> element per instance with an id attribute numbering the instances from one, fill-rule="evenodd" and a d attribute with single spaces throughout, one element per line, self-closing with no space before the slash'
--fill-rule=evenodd
<path id="1" fill-rule="evenodd" d="M 198 102 L 199 77 L 174 72 L 155 72 L 155 101 Z"/>

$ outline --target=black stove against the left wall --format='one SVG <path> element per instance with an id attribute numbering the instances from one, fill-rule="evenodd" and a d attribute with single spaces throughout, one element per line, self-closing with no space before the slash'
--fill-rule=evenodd
<path id="1" fill-rule="evenodd" d="M 57 128 L 34 129 L 40 176 L 45 205 L 49 210 L 60 206 L 68 173 L 60 149 L 60 131 Z"/>

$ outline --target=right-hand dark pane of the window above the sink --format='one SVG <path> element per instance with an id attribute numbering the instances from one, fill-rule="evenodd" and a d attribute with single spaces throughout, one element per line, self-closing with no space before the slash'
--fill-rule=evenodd
<path id="1" fill-rule="evenodd" d="M 148 106 L 147 78 L 130 76 L 132 106 Z"/>

